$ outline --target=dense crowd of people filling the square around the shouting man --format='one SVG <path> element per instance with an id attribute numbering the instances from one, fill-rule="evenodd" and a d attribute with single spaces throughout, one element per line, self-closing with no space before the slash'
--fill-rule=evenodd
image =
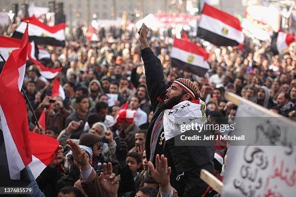
<path id="1" fill-rule="evenodd" d="M 159 108 L 163 107 L 155 103 L 170 99 L 165 94 L 178 90 L 172 85 L 176 80 L 184 84 L 188 80 L 192 82 L 189 86 L 197 87 L 192 91 L 205 102 L 208 122 L 215 121 L 213 117 L 225 117 L 228 123 L 234 121 L 237 106 L 224 98 L 226 92 L 283 116 L 296 116 L 295 49 L 274 56 L 267 53 L 264 44 L 255 45 L 249 38 L 245 39 L 242 51 L 208 45 L 210 69 L 204 76 L 197 76 L 171 65 L 174 36 L 171 29 L 149 32 L 147 45 L 135 28 L 102 27 L 97 34 L 100 41 L 89 42 L 86 32 L 77 28 L 65 47 L 44 46 L 51 57 L 41 62 L 50 68 L 62 67 L 57 79 L 64 89 L 64 100 L 52 97 L 53 80 L 44 79 L 38 67 L 30 65 L 26 70 L 25 92 L 37 118 L 45 110 L 46 123 L 44 130 L 34 129 L 33 113 L 28 106 L 30 130 L 56 138 L 62 146 L 57 153 L 62 156 L 56 156 L 36 179 L 45 196 L 217 195 L 206 183 L 190 177 L 190 173 L 199 177 L 200 169 L 186 169 L 190 168 L 188 164 L 183 168 L 188 172 L 179 173 L 181 167 L 173 154 L 176 149 L 169 141 L 166 146 L 170 148 L 163 148 L 163 152 L 159 150 L 162 146 L 156 144 L 152 158 L 145 145 L 151 141 L 151 130 L 153 135 L 157 130 Z M 189 39 L 202 44 L 195 37 Z M 164 92 L 164 98 L 158 98 L 159 92 Z M 116 137 L 120 138 L 120 147 L 114 140 Z M 192 165 L 206 168 L 222 180 L 227 145 L 224 141 L 213 149 L 202 150 L 208 161 L 203 157 L 203 162 L 195 161 Z M 177 180 L 172 180 L 172 174 Z"/>

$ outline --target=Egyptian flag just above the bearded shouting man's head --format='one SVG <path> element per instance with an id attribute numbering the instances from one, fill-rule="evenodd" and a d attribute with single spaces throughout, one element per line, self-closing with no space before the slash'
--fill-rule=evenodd
<path id="1" fill-rule="evenodd" d="M 209 69 L 207 51 L 192 42 L 175 38 L 171 52 L 172 66 L 203 76 Z"/>

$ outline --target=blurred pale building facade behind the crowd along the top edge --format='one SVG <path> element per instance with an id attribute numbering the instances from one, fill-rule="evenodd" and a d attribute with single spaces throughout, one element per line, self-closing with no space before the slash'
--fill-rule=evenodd
<path id="1" fill-rule="evenodd" d="M 48 7 L 53 0 L 35 0 L 35 6 Z M 207 2 L 229 14 L 243 15 L 247 0 L 57 0 L 63 2 L 64 14 L 67 25 L 86 25 L 93 19 L 115 19 L 121 18 L 123 13 L 128 19 L 138 20 L 148 14 L 156 13 L 190 13 L 188 5 L 194 8 L 202 6 Z M 12 4 L 18 3 L 21 9 L 22 3 L 33 2 L 33 0 L 0 0 L 2 12 L 12 10 Z M 195 13 L 197 14 L 197 13 Z"/>

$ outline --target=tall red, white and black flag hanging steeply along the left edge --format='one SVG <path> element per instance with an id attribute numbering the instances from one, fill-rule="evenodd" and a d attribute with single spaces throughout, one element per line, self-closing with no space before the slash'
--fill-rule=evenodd
<path id="1" fill-rule="evenodd" d="M 32 161 L 27 106 L 20 93 L 29 45 L 27 26 L 20 48 L 11 52 L 0 74 L 0 118 L 6 150 L 6 158 L 1 160 L 4 165 L 7 161 L 12 180 L 19 180 L 20 171 Z"/>

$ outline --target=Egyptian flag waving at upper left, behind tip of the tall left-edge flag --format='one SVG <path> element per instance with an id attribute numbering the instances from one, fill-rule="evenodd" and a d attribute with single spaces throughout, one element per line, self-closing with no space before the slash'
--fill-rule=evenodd
<path id="1" fill-rule="evenodd" d="M 47 26 L 40 22 L 35 16 L 25 18 L 20 25 L 15 29 L 14 38 L 20 39 L 26 28 L 26 21 L 29 21 L 29 37 L 30 41 L 35 41 L 38 44 L 48 44 L 54 46 L 65 46 L 66 23 L 60 23 L 53 27 Z"/>

